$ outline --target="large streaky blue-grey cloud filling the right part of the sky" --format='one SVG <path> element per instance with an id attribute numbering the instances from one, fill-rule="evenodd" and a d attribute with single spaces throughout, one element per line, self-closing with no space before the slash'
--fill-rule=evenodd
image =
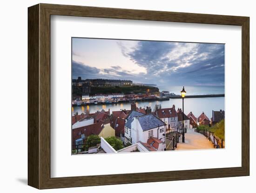
<path id="1" fill-rule="evenodd" d="M 224 82 L 223 44 L 140 41 L 125 56 L 145 67 L 151 81 L 161 77 L 166 84 Z"/>

